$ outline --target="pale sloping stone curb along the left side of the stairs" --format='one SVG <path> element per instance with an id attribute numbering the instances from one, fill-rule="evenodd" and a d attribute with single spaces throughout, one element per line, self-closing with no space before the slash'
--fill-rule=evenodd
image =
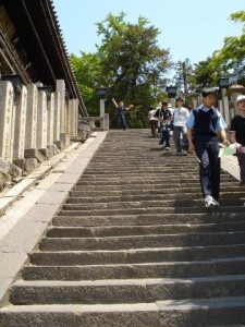
<path id="1" fill-rule="evenodd" d="M 42 162 L 0 198 L 0 214 L 3 215 L 0 218 L 0 307 L 7 303 L 10 286 L 28 261 L 28 254 L 107 133 L 94 133 L 84 144 L 72 144 L 62 155 Z"/>

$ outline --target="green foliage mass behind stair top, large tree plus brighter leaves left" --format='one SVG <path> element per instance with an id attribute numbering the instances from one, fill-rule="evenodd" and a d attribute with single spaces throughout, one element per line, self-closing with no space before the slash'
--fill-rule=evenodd
<path id="1" fill-rule="evenodd" d="M 111 113 L 112 123 L 115 120 L 110 99 L 114 97 L 126 105 L 134 104 L 134 109 L 128 112 L 131 124 L 144 126 L 148 107 L 163 95 L 171 68 L 169 50 L 157 44 L 160 32 L 142 16 L 136 24 L 125 22 L 123 12 L 118 16 L 110 13 L 96 25 L 101 36 L 96 53 L 81 52 L 81 58 L 71 56 L 88 112 L 94 114 L 93 108 L 98 102 L 95 89 L 103 85 L 109 88 L 106 109 Z"/>

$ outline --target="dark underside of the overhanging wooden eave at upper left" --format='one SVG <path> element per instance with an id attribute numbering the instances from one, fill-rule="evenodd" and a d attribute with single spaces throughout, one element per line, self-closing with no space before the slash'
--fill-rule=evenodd
<path id="1" fill-rule="evenodd" d="M 71 68 L 52 0 L 1 0 L 13 25 L 17 45 L 25 50 L 26 69 L 32 82 L 40 81 L 56 89 L 56 81 L 64 80 L 70 98 L 78 99 L 82 117 L 87 111 Z M 19 69 L 23 81 L 28 78 Z"/>

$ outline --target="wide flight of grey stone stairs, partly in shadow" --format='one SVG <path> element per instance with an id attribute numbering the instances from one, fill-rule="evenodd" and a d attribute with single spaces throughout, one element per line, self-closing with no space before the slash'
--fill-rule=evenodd
<path id="1" fill-rule="evenodd" d="M 205 208 L 194 155 L 110 131 L 0 310 L 0 326 L 245 326 L 244 190 Z"/>

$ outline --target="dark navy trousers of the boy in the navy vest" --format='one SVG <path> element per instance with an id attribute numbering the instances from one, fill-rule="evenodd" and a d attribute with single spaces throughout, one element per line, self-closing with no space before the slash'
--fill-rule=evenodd
<path id="1" fill-rule="evenodd" d="M 197 135 L 194 143 L 196 155 L 199 159 L 199 178 L 203 195 L 211 195 L 216 201 L 219 201 L 220 158 L 218 138 L 210 135 Z"/>

